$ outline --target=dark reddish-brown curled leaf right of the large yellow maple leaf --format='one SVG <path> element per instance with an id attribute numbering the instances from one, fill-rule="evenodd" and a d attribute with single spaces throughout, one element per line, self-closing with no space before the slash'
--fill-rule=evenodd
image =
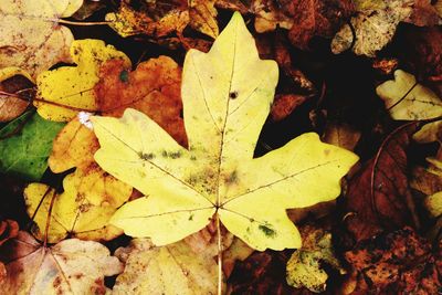
<path id="1" fill-rule="evenodd" d="M 418 226 L 407 178 L 406 148 L 418 124 L 406 124 L 391 133 L 377 155 L 350 181 L 345 198 L 347 230 L 356 241 L 382 230 Z"/>

